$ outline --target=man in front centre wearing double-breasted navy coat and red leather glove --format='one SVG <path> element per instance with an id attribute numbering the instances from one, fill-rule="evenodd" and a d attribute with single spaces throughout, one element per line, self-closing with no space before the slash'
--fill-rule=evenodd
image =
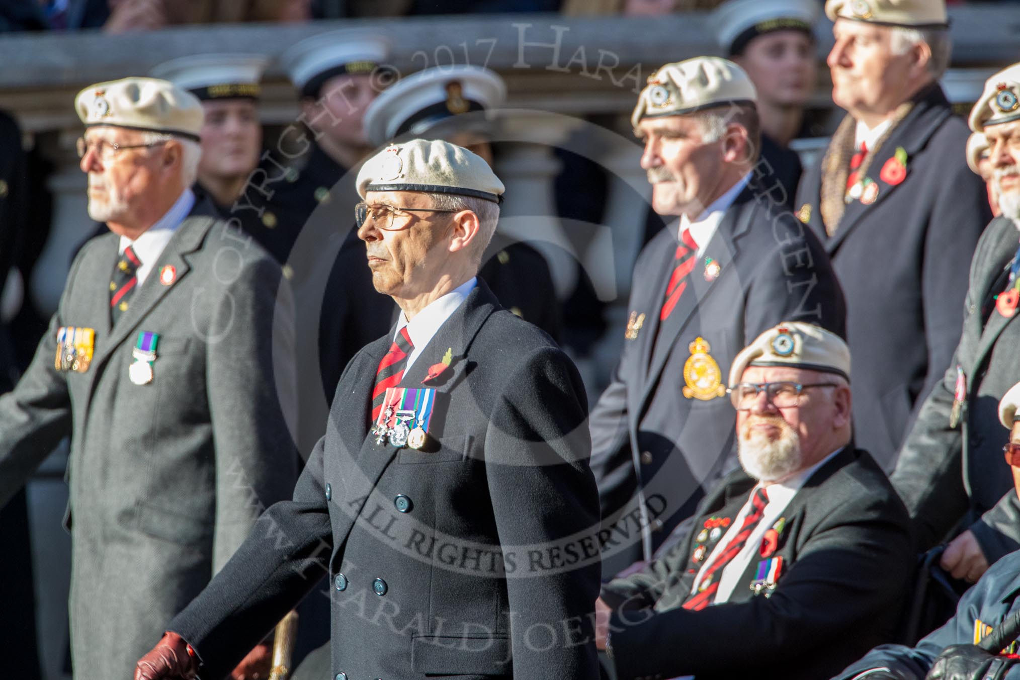
<path id="1" fill-rule="evenodd" d="M 595 677 L 584 388 L 476 277 L 503 184 L 465 149 L 413 140 L 357 186 L 372 280 L 402 313 L 348 365 L 294 500 L 266 511 L 136 678 L 221 677 L 323 567 L 332 678 Z"/>

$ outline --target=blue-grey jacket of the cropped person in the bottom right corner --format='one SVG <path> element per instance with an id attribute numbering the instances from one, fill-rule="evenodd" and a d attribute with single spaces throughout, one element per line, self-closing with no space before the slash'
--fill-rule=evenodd
<path id="1" fill-rule="evenodd" d="M 902 680 L 924 680 L 935 658 L 946 647 L 976 644 L 1017 610 L 1020 610 L 1020 553 L 1013 553 L 991 565 L 974 587 L 960 598 L 956 616 L 918 642 L 917 646 L 883 644 L 875 647 L 833 680 L 852 680 L 872 669 L 887 669 Z M 1016 640 L 1008 640 L 1006 646 L 1010 653 L 1016 653 Z M 1014 668 L 1006 677 L 1016 678 L 1018 672 Z M 866 678 L 868 675 L 863 675 L 862 680 Z"/>

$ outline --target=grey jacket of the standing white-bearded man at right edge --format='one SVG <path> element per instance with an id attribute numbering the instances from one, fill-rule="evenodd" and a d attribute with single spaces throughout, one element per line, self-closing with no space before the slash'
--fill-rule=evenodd
<path id="1" fill-rule="evenodd" d="M 989 563 L 1020 548 L 1020 503 L 1002 453 L 1009 433 L 999 422 L 999 400 L 1020 381 L 1020 315 L 1005 318 L 994 302 L 1006 287 L 1017 237 L 1013 223 L 1000 217 L 978 242 L 960 344 L 945 377 L 928 394 L 891 475 L 920 550 L 961 521 Z M 957 366 L 966 378 L 967 406 L 962 423 L 951 427 Z"/>

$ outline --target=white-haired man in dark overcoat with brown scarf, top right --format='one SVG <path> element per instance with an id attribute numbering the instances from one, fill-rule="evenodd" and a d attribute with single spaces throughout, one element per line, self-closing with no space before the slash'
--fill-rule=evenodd
<path id="1" fill-rule="evenodd" d="M 801 179 L 847 295 L 856 439 L 886 469 L 960 338 L 970 256 L 991 219 L 964 160 L 967 128 L 938 79 L 945 0 L 828 0 L 832 99 L 847 110 Z"/>

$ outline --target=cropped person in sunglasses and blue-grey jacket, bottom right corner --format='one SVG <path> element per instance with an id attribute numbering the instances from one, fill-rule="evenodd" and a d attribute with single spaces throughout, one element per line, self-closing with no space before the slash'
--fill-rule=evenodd
<path id="1" fill-rule="evenodd" d="M 1002 463 L 988 461 L 991 473 L 998 473 L 1007 482 L 1012 479 L 1009 494 L 1020 498 L 1020 383 L 1010 387 L 993 409 L 1009 432 L 1009 440 L 1002 447 L 1011 475 Z M 997 432 L 994 447 L 1003 440 L 1002 430 Z M 957 613 L 946 625 L 917 643 L 915 647 L 885 644 L 872 649 L 859 662 L 851 665 L 836 680 L 1007 680 L 1020 677 L 1015 655 L 1017 632 L 1012 635 L 1000 631 L 993 645 L 984 638 L 1001 626 L 1015 625 L 1020 613 L 1020 552 L 1011 553 L 984 573 L 957 605 Z M 1010 623 L 1007 623 L 1010 622 Z M 977 645 L 982 642 L 983 649 Z M 959 646 L 955 646 L 959 645 Z M 988 650 L 990 646 L 990 651 Z M 1010 658 L 1010 655 L 1014 655 Z"/>

